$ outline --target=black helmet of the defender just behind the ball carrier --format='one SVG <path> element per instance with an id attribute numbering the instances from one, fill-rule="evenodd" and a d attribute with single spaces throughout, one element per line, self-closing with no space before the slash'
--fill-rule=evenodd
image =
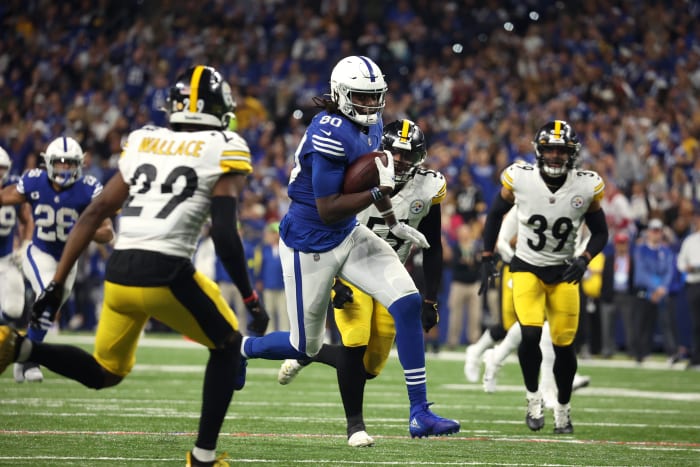
<path id="1" fill-rule="evenodd" d="M 423 131 L 408 119 L 396 120 L 384 127 L 382 149 L 399 156 L 399 160 L 394 161 L 394 180 L 397 185 L 403 185 L 413 178 L 416 167 L 428 155 Z"/>

